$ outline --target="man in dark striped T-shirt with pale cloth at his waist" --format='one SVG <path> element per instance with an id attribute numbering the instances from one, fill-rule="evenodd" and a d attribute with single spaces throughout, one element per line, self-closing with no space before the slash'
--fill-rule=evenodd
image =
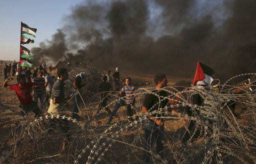
<path id="1" fill-rule="evenodd" d="M 64 81 L 68 79 L 68 73 L 65 68 L 58 68 L 57 69 L 58 79 L 54 82 L 51 91 L 50 97 L 50 106 L 48 108 L 48 113 L 53 115 L 63 114 L 63 106 L 65 104 L 65 100 L 69 99 L 70 97 L 65 97 L 65 89 L 64 89 Z M 70 130 L 70 125 L 66 119 L 55 118 L 53 119 L 54 122 L 61 123 L 61 130 L 64 133 L 68 133 Z M 54 126 L 54 122 L 50 124 L 50 126 Z M 67 146 L 67 141 L 70 140 L 70 134 L 65 135 L 64 142 L 62 144 L 62 149 L 65 150 Z"/>

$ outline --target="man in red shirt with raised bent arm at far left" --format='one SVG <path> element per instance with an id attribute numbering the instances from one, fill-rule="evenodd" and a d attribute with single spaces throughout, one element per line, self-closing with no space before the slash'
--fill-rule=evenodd
<path id="1" fill-rule="evenodd" d="M 33 101 L 30 87 L 34 85 L 33 82 L 26 82 L 24 75 L 18 74 L 17 75 L 17 84 L 8 85 L 7 82 L 11 81 L 13 78 L 8 77 L 3 82 L 3 87 L 9 87 L 11 90 L 14 90 L 17 94 L 17 97 L 20 101 L 20 109 L 22 115 L 27 115 L 29 111 L 33 111 L 35 116 L 41 114 L 41 110 L 37 106 L 37 103 Z"/>

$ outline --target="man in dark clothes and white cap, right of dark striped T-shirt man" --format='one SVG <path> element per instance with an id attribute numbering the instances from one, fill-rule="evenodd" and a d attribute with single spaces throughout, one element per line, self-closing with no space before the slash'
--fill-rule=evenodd
<path id="1" fill-rule="evenodd" d="M 84 83 L 81 83 L 81 80 L 84 79 L 86 77 L 86 73 L 85 72 L 80 72 L 79 74 L 77 74 L 75 76 L 74 79 L 74 88 L 75 88 L 75 96 L 74 96 L 74 107 L 73 107 L 73 112 L 72 112 L 72 118 L 79 118 L 78 116 L 78 106 L 80 103 L 80 89 L 82 86 L 84 86 Z"/>

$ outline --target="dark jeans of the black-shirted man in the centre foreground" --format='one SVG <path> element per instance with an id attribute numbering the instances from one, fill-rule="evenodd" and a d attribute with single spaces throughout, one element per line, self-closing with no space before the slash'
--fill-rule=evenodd
<path id="1" fill-rule="evenodd" d="M 156 140 L 156 153 L 163 157 L 163 132 L 164 132 L 164 126 L 157 125 L 154 121 L 150 121 L 148 119 L 145 120 L 144 123 L 144 131 L 145 131 L 145 150 L 150 150 L 150 147 L 152 147 L 154 139 Z M 143 160 L 144 162 L 149 162 L 150 159 L 150 153 L 147 151 L 144 151 Z"/>

